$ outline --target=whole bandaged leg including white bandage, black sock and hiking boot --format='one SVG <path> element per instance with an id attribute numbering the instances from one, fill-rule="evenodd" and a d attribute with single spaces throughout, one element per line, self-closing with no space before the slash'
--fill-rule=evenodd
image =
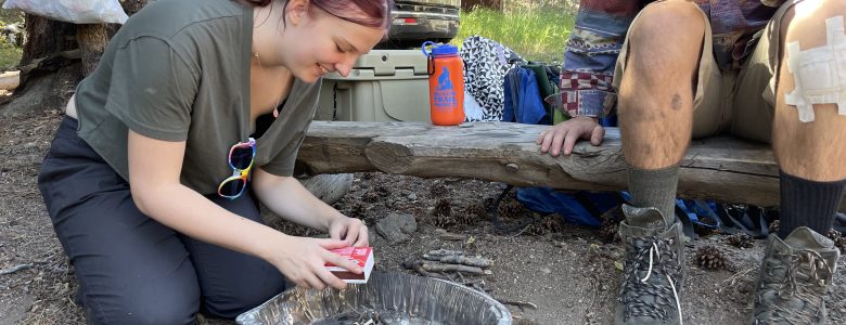
<path id="1" fill-rule="evenodd" d="M 831 227 L 846 184 L 846 116 L 833 103 L 846 87 L 846 80 L 836 77 L 846 72 L 846 2 L 802 1 L 785 10 L 780 22 L 773 21 L 781 26 L 776 29 L 778 40 L 772 40 L 779 44 L 781 63 L 776 67 L 772 130 L 781 168 L 781 229 L 779 236 L 770 237 L 753 318 L 768 324 L 824 324 L 823 296 L 838 251 L 821 234 Z M 826 54 L 831 56 L 817 56 L 822 61 L 809 65 L 816 55 Z M 820 96 L 826 92 L 828 98 Z M 838 101 L 845 100 L 839 94 Z M 803 276 L 791 276 L 785 270 Z"/>

